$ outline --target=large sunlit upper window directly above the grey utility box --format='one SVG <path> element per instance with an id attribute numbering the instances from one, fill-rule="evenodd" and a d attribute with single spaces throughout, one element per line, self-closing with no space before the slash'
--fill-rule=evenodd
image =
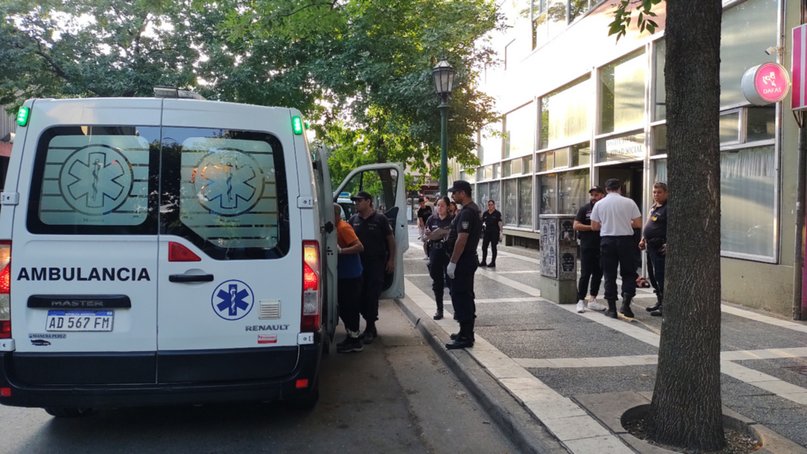
<path id="1" fill-rule="evenodd" d="M 539 148 L 554 148 L 589 139 L 591 95 L 588 80 L 583 80 L 541 98 Z"/>

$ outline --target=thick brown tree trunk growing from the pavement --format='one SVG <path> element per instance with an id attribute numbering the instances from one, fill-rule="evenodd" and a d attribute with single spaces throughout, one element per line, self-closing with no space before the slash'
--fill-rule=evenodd
<path id="1" fill-rule="evenodd" d="M 655 441 L 725 445 L 720 397 L 721 0 L 669 0 L 665 32 L 669 225 Z"/>

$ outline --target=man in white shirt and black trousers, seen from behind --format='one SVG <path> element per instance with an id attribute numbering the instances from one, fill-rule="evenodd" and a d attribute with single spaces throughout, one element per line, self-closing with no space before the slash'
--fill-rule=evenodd
<path id="1" fill-rule="evenodd" d="M 622 275 L 622 307 L 619 312 L 633 318 L 630 303 L 636 296 L 636 241 L 633 229 L 641 228 L 642 213 L 636 202 L 620 194 L 622 183 L 616 178 L 605 182 L 606 195 L 594 204 L 591 210 L 591 228 L 600 232 L 602 273 L 605 276 L 605 299 L 608 310 L 605 315 L 618 318 L 616 313 L 616 269 Z"/>

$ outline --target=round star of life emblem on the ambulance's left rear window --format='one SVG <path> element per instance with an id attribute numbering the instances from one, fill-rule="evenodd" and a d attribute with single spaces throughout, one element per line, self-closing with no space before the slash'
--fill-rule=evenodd
<path id="1" fill-rule="evenodd" d="M 132 168 L 126 157 L 107 145 L 76 150 L 62 165 L 59 190 L 74 210 L 90 215 L 119 208 L 132 188 Z"/>

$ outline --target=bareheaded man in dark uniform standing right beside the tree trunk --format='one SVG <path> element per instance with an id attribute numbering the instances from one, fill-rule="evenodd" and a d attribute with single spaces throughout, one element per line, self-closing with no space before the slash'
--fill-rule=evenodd
<path id="1" fill-rule="evenodd" d="M 650 283 L 656 290 L 656 304 L 645 308 L 650 315 L 661 317 L 664 303 L 664 267 L 667 259 L 667 185 L 653 185 L 653 206 L 644 225 L 640 249 L 647 250 L 648 274 Z"/>

